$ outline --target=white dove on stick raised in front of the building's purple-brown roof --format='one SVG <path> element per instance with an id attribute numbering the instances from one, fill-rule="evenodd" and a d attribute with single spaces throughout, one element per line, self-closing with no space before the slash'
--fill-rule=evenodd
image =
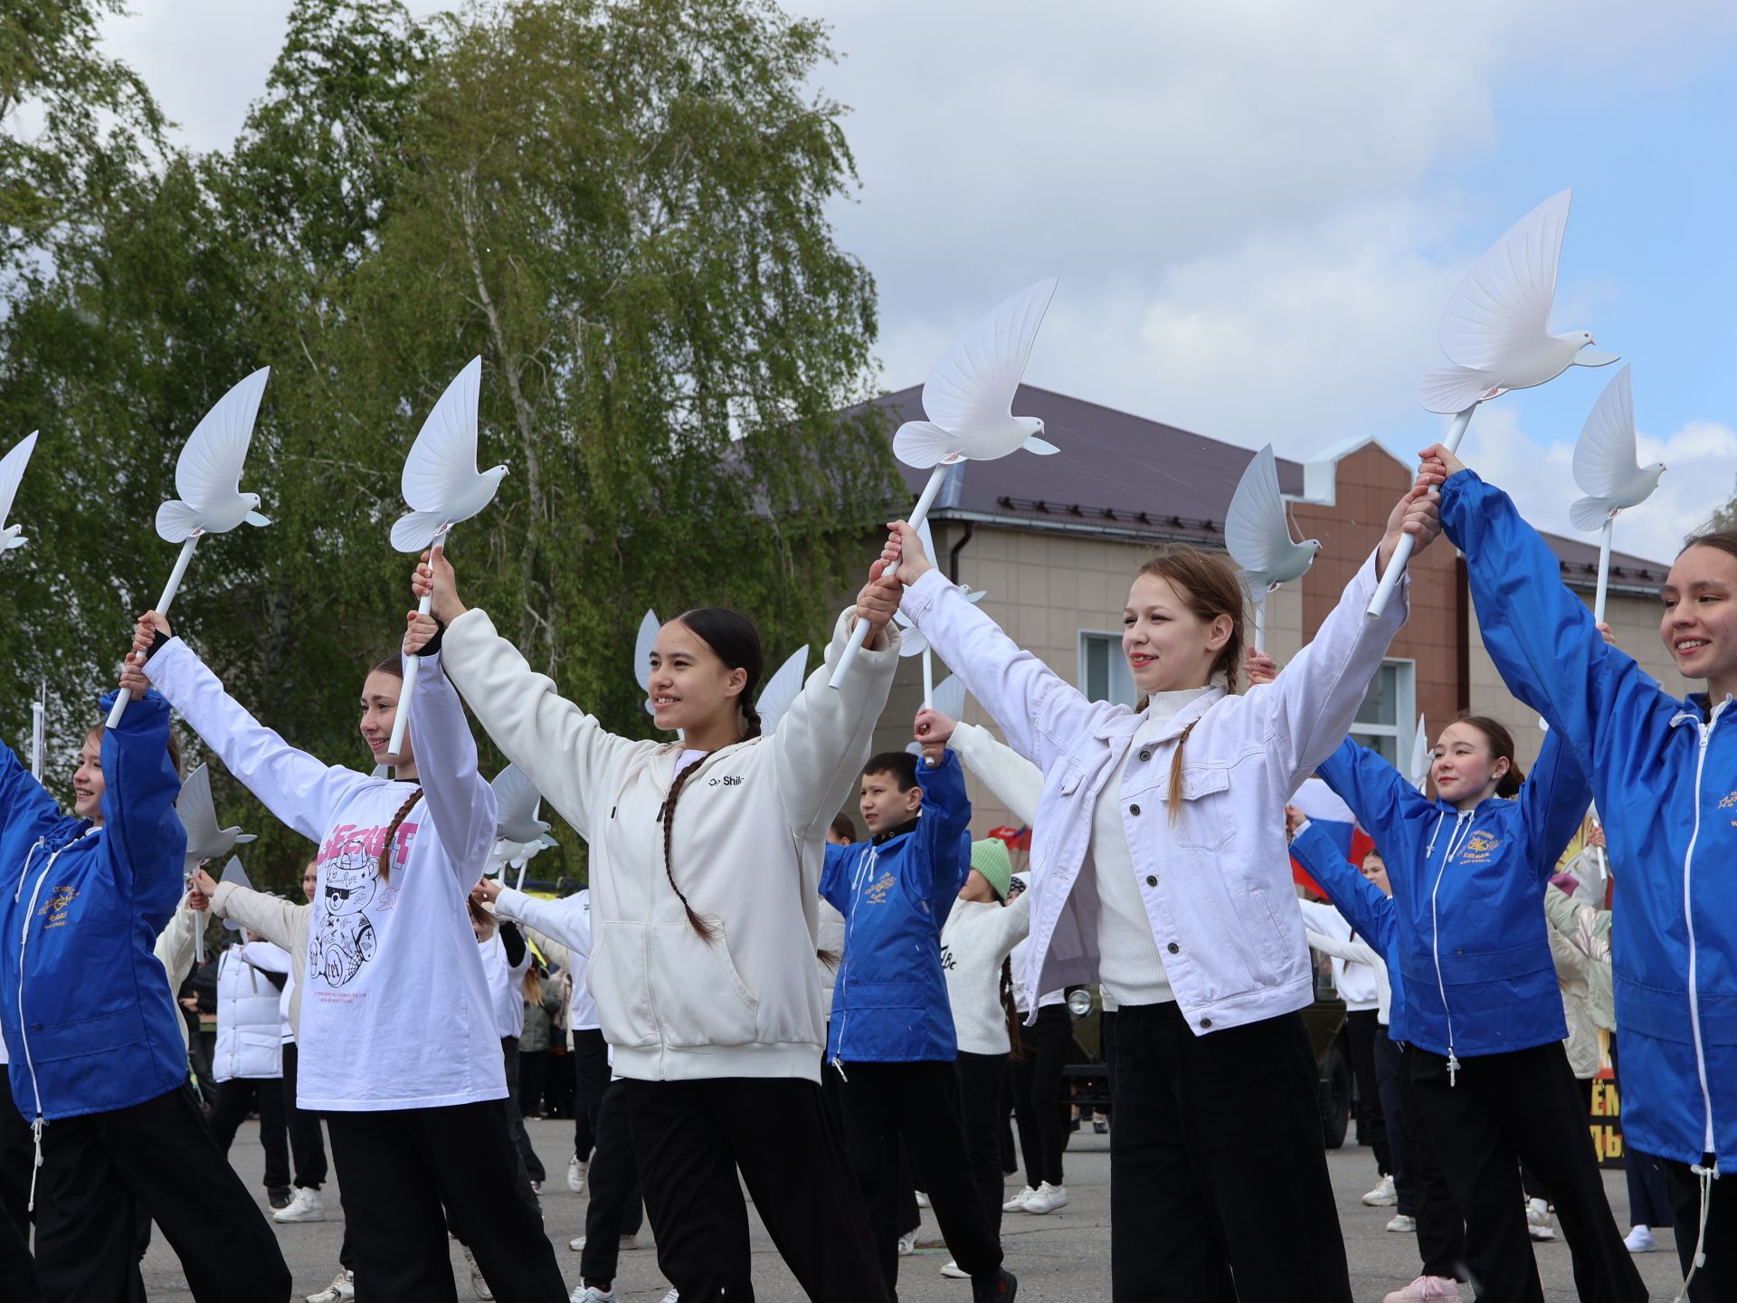
<path id="1" fill-rule="evenodd" d="M 1040 438 L 1042 420 L 1013 415 L 1013 396 L 1054 294 L 1056 278 L 1051 276 L 1006 299 L 961 335 L 922 382 L 928 420 L 907 420 L 893 434 L 893 453 L 902 462 L 917 469 L 935 467 L 912 507 L 914 530 L 921 530 L 929 518 L 948 466 L 987 462 L 1020 448 L 1046 457 L 1060 452 Z M 867 639 L 868 625 L 858 620 L 832 671 L 834 688 L 844 686 Z"/>

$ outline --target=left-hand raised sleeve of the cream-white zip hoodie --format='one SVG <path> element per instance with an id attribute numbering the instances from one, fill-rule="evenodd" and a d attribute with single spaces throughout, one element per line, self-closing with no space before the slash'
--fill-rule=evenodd
<path id="1" fill-rule="evenodd" d="M 610 799 L 604 782 L 611 768 L 634 749 L 655 751 L 657 744 L 615 737 L 566 700 L 495 632 L 488 612 L 472 608 L 453 620 L 439 658 L 495 745 L 591 841 L 592 801 Z"/>

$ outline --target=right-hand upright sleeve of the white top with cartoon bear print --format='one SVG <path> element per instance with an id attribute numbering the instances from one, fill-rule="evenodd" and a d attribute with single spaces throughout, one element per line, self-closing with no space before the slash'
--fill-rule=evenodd
<path id="1" fill-rule="evenodd" d="M 495 844 L 495 789 L 476 771 L 476 738 L 439 657 L 424 657 L 410 702 L 410 744 L 429 818 L 459 886 L 469 891 Z"/>

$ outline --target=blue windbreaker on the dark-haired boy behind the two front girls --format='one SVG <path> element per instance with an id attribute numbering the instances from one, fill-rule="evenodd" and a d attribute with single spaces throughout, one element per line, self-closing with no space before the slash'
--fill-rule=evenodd
<path id="1" fill-rule="evenodd" d="M 820 895 L 844 916 L 844 962 L 832 987 L 827 1058 L 908 1063 L 959 1058 L 941 971 L 941 926 L 971 872 L 971 801 L 948 751 L 917 764 L 917 827 L 856 846 L 827 846 Z"/>

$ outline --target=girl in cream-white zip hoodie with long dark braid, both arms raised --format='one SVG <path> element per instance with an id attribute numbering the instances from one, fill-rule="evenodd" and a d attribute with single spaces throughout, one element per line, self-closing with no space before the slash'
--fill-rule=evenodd
<path id="1" fill-rule="evenodd" d="M 604 731 L 485 612 L 464 608 L 443 556 L 424 561 L 413 587 L 433 594 L 445 624 L 446 672 L 591 846 L 587 978 L 624 1079 L 665 1277 L 683 1298 L 754 1296 L 745 1180 L 811 1298 L 884 1300 L 820 1098 L 815 938 L 822 839 L 898 664 L 886 627 L 896 585 L 863 587 L 769 738 L 750 705 L 763 665 L 754 625 L 716 608 L 665 624 L 651 704 L 658 728 L 683 730 L 683 742 L 660 745 Z M 830 667 L 856 618 L 874 638 L 834 690 Z"/>

